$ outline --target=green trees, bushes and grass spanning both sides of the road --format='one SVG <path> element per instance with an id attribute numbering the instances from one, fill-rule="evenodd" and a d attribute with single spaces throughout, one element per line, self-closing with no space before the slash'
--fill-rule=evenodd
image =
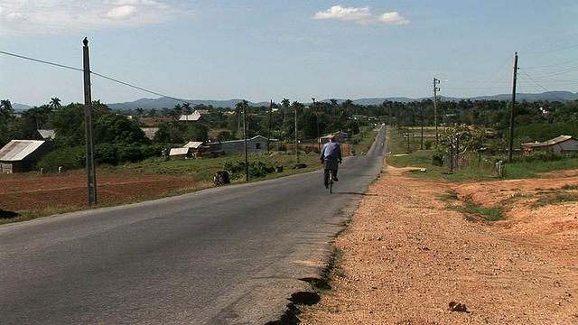
<path id="1" fill-rule="evenodd" d="M 306 105 L 284 98 L 270 106 L 253 107 L 241 100 L 235 107 L 212 107 L 175 103 L 174 107 L 135 108 L 113 111 L 96 100 L 93 110 L 93 143 L 97 175 L 102 172 L 190 176 L 212 182 L 218 171 L 227 171 L 232 182 L 246 180 L 244 155 L 212 152 L 209 144 L 251 138 L 271 139 L 266 153 L 248 155 L 249 181 L 275 178 L 320 169 L 318 160 L 322 135 L 340 132 L 347 140 L 344 153 L 368 153 L 381 124 L 388 125 L 387 163 L 415 167 L 417 177 L 446 181 L 491 181 L 524 179 L 545 172 L 575 169 L 575 153 L 516 153 L 508 161 L 509 101 L 433 100 L 359 105 L 351 100 L 329 99 Z M 199 120 L 180 120 L 193 112 L 204 112 Z M 13 139 L 38 139 L 38 130 L 53 130 L 49 140 L 54 151 L 36 164 L 38 174 L 82 171 L 85 168 L 84 106 L 61 105 L 50 98 L 47 105 L 14 114 L 9 99 L 0 103 L 0 147 Z M 295 123 L 295 118 L 298 123 Z M 438 129 L 434 127 L 437 121 Z M 559 135 L 578 135 L 578 101 L 522 101 L 514 119 L 514 148 Z M 144 127 L 157 127 L 154 136 Z M 299 157 L 295 151 L 299 138 Z M 205 152 L 187 160 L 168 159 L 171 148 L 188 142 L 206 144 Z M 502 172 L 497 163 L 504 163 Z M 298 168 L 296 166 L 306 166 Z M 283 172 L 280 172 L 283 170 Z M 7 175 L 0 176 L 8 177 Z M 9 177 L 30 177 L 10 175 Z M 143 198 L 142 200 L 146 200 Z M 557 200 L 565 200 L 560 197 Z M 0 207 L 1 209 L 1 207 Z M 474 209 L 474 207 L 471 207 Z M 493 211 L 480 213 L 493 214 Z M 495 217 L 491 217 L 495 218 Z"/>

